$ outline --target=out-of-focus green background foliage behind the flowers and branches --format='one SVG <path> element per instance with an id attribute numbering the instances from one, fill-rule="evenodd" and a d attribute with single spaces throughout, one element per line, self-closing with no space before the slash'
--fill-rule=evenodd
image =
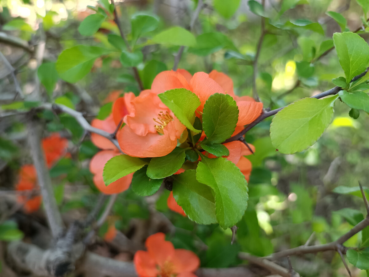
<path id="1" fill-rule="evenodd" d="M 362 25 L 362 8 L 356 1 L 344 0 L 265 2 L 265 11 L 260 11 L 247 0 L 223 1 L 223 4 L 216 0 L 205 1 L 206 6 L 193 30 L 197 35 L 196 45 L 185 49 L 179 68 L 192 74 L 216 69 L 232 78 L 237 95 L 252 95 L 252 61 L 261 33 L 260 15 L 264 15 L 268 33 L 262 43 L 256 78 L 264 107 L 275 109 L 332 88 L 331 79 L 343 75 L 337 54 L 333 50 L 316 59 L 332 47 L 332 34 L 341 31 L 341 26 L 326 12 L 341 13 L 347 22 L 343 29 L 354 31 Z M 108 40 L 118 34 L 111 18 L 92 36 L 83 36 L 78 31 L 81 21 L 94 13 L 92 8 L 86 7 L 106 7 L 104 0 L 0 0 L 0 4 L 0 50 L 16 68 L 25 94 L 31 95 L 35 88 L 34 75 L 38 73 L 40 79 L 43 76 L 42 70 L 40 73 L 37 69 L 34 54 L 34 46 L 40 40 L 46 41 L 43 63 L 49 63 L 46 65 L 49 67 L 44 68 L 49 74 L 55 71 L 55 61 L 64 49 L 81 44 L 111 49 Z M 135 49 L 141 49 L 143 54 L 143 61 L 137 68 L 145 88 L 150 88 L 157 73 L 172 68 L 173 56 L 180 48 L 158 44 L 152 38 L 169 26 L 187 28 L 196 4 L 190 0 L 117 2 L 129 41 L 135 40 L 131 32 L 132 17 L 144 13 L 159 20 L 158 28 L 138 38 L 135 44 Z M 29 51 L 5 43 L 1 39 L 4 34 L 27 41 L 25 48 Z M 362 37 L 369 39 L 365 33 Z M 84 111 L 87 119 L 95 116 L 104 119 L 111 109 L 106 98 L 112 90 L 139 93 L 131 68 L 122 66 L 119 58 L 117 52 L 96 59 L 91 72 L 77 84 L 59 79 L 55 71 L 55 81 L 51 80 L 51 87 L 45 88 L 46 97 L 49 101 Z M 25 104 L 13 102 L 14 84 L 4 64 L 0 64 L 0 77 L 2 110 L 27 110 L 22 106 Z M 32 102 L 27 103 L 32 105 Z M 239 251 L 266 256 L 303 245 L 309 237 L 311 244 L 335 240 L 363 219 L 365 208 L 358 181 L 364 186 L 369 184 L 368 116 L 362 112 L 354 120 L 348 112 L 348 107 L 336 103 L 334 121 L 320 140 L 306 151 L 293 155 L 280 154 L 273 148 L 269 138 L 270 119 L 247 133 L 246 141 L 254 144 L 256 152 L 250 157 L 253 170 L 249 181 L 249 206 L 238 223 L 237 240 L 233 245 L 230 244 L 231 230 L 224 231 L 216 225 L 197 225 L 170 211 L 166 205 L 169 194 L 166 190 L 148 198 L 135 195 L 131 189 L 120 194 L 113 215 L 99 234 L 103 237 L 108 225 L 115 224 L 128 238 L 142 244 L 149 233 L 164 231 L 176 248 L 197 253 L 202 267 L 239 265 L 242 263 L 237 258 Z M 72 222 L 86 216 L 96 203 L 98 191 L 88 164 L 98 149 L 85 138 L 82 127 L 73 117 L 56 117 L 50 111 L 42 112 L 41 116 L 46 123 L 45 133 L 59 131 L 70 139 L 70 156 L 51 168 L 50 174 L 63 218 Z M 31 161 L 25 142 L 27 133 L 24 122 L 11 116 L 0 119 L 0 133 L 0 194 L 11 199 L 9 195 L 14 189 L 17 170 L 21 164 Z M 7 209 L 4 203 L 1 201 L 0 205 L 3 213 Z M 4 220 L 0 225 L 0 240 L 3 241 L 19 239 L 22 233 L 37 240 L 33 233 L 37 228 L 30 221 L 45 224 L 42 212 L 25 219 L 18 211 L 10 220 Z M 360 235 L 356 235 L 345 245 L 357 246 L 360 240 Z M 116 259 L 132 258 L 129 251 L 106 246 L 102 239 L 91 247 Z M 291 259 L 301 276 L 347 275 L 337 253 Z M 285 263 L 288 267 L 287 260 Z M 353 269 L 352 274 L 366 276 L 365 271 L 358 269 Z"/>

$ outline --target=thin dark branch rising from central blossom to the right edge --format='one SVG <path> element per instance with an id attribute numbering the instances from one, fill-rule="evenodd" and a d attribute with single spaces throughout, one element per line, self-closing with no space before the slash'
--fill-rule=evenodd
<path id="1" fill-rule="evenodd" d="M 366 72 L 368 72 L 368 69 L 369 69 L 369 67 L 366 68 L 366 70 L 363 73 L 361 73 L 361 74 L 355 76 L 354 78 L 352 78 L 351 82 L 354 82 L 357 79 L 364 76 L 366 74 Z M 319 93 L 317 95 L 311 96 L 310 98 L 320 99 L 320 98 L 323 98 L 325 96 L 335 95 L 340 90 L 342 90 L 342 88 L 340 88 L 339 86 L 335 86 L 334 88 L 328 89 L 325 92 L 322 92 L 322 93 Z M 275 115 L 277 112 L 279 112 L 280 110 L 283 110 L 285 107 L 286 106 L 280 107 L 278 109 L 271 110 L 271 111 L 268 111 L 268 112 L 265 112 L 265 113 L 262 113 L 257 119 L 254 120 L 254 122 L 248 124 L 248 126 L 246 126 L 244 130 L 242 130 L 238 134 L 235 134 L 234 136 L 228 138 L 227 140 L 225 140 L 225 142 L 230 142 L 230 141 L 235 141 L 235 140 L 242 140 L 242 137 L 244 136 L 244 134 L 246 134 L 249 130 L 251 130 L 253 127 L 255 127 L 259 122 L 263 121 L 264 119 L 268 118 L 269 116 Z"/>

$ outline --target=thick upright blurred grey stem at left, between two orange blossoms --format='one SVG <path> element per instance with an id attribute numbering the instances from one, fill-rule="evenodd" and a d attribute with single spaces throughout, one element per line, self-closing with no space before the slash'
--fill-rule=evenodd
<path id="1" fill-rule="evenodd" d="M 45 154 L 41 147 L 42 128 L 34 119 L 27 123 L 28 143 L 30 144 L 33 164 L 37 172 L 37 180 L 41 189 L 47 220 L 54 237 L 61 234 L 64 224 L 52 189 L 51 178 L 45 164 Z"/>

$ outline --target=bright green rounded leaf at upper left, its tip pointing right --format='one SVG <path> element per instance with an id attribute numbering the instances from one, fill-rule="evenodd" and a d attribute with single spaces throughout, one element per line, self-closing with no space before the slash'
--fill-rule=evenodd
<path id="1" fill-rule="evenodd" d="M 75 83 L 90 72 L 96 58 L 110 53 L 110 50 L 77 45 L 64 50 L 56 61 L 56 71 L 59 76 L 70 83 Z"/>

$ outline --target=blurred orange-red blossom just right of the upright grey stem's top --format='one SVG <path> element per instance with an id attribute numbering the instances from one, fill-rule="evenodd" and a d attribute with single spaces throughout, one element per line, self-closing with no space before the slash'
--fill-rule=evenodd
<path id="1" fill-rule="evenodd" d="M 67 147 L 68 140 L 60 137 L 59 133 L 42 139 L 42 148 L 44 148 L 46 164 L 49 168 L 65 155 Z"/>

